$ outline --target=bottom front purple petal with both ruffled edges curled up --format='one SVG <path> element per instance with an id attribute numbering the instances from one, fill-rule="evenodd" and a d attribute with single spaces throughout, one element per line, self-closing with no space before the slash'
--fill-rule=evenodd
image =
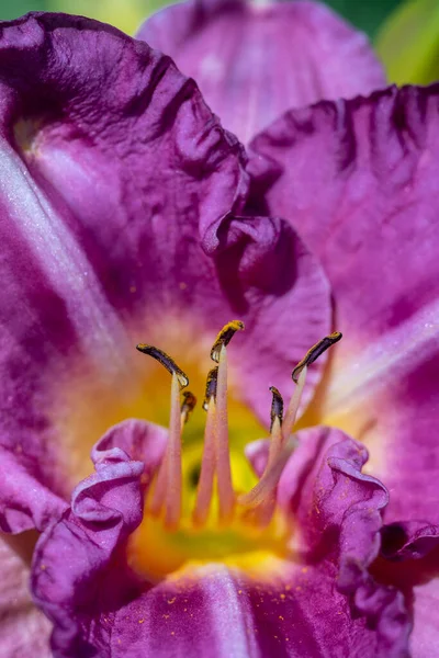
<path id="1" fill-rule="evenodd" d="M 142 514 L 139 469 L 110 451 L 37 545 L 34 595 L 56 624 L 54 655 L 406 656 L 402 594 L 368 574 L 387 492 L 361 474 L 367 451 L 342 432 L 301 439 L 279 486 L 292 514 L 291 559 L 273 556 L 251 577 L 189 565 L 156 585 L 124 566 L 126 533 Z"/>

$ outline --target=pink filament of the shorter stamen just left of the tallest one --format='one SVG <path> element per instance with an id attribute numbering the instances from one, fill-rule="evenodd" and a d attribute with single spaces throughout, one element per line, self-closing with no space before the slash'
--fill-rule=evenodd
<path id="1" fill-rule="evenodd" d="M 193 510 L 193 522 L 195 525 L 204 525 L 211 507 L 213 494 L 213 478 L 215 474 L 215 400 L 211 396 L 207 402 L 207 417 L 204 429 L 204 449 L 196 502 Z"/>

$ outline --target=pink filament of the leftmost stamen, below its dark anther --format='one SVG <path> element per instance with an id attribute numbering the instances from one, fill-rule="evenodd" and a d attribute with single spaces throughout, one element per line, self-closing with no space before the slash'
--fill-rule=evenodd
<path id="1" fill-rule="evenodd" d="M 181 515 L 181 420 L 180 420 L 180 381 L 172 373 L 171 411 L 169 419 L 169 439 L 166 455 L 167 487 L 165 524 L 177 529 Z"/>

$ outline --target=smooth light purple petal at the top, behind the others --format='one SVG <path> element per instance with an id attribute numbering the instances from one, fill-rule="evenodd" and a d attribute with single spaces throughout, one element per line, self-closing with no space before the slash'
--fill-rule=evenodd
<path id="1" fill-rule="evenodd" d="M 192 0 L 149 18 L 137 37 L 193 77 L 245 143 L 290 107 L 385 86 L 365 35 L 318 2 Z"/>

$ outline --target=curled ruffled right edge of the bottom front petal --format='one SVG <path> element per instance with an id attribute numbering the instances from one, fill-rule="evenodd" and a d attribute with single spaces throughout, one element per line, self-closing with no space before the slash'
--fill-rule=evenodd
<path id="1" fill-rule="evenodd" d="M 331 533 L 340 526 L 337 587 L 352 597 L 353 610 L 368 619 L 375 633 L 373 638 L 360 636 L 359 643 L 365 645 L 357 650 L 404 656 L 410 629 L 404 599 L 394 588 L 376 585 L 368 574 L 379 555 L 381 512 L 389 502 L 383 485 L 361 473 L 368 452 L 335 429 L 302 430 L 296 438 L 297 447 L 278 487 L 279 504 L 293 513 L 300 527 L 292 546 L 313 563 L 320 559 L 324 547 L 337 541 Z M 267 449 L 266 441 L 247 447 L 257 473 L 263 470 Z M 376 643 L 373 649 L 369 643 Z"/>

